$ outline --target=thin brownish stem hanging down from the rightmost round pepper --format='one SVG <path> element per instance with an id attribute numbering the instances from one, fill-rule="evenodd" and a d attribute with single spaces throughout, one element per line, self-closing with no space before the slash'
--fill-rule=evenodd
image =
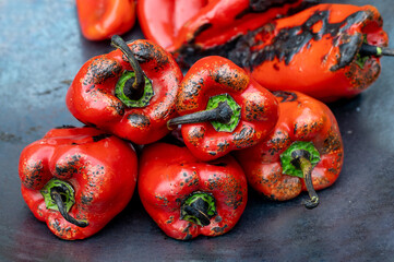
<path id="1" fill-rule="evenodd" d="M 312 210 L 319 205 L 319 196 L 317 191 L 314 191 L 312 183 L 312 164 L 310 160 L 310 153 L 306 150 L 296 150 L 291 153 L 291 164 L 301 169 L 303 175 L 303 181 L 307 186 L 310 200 L 305 202 L 305 206 L 308 210 Z"/>

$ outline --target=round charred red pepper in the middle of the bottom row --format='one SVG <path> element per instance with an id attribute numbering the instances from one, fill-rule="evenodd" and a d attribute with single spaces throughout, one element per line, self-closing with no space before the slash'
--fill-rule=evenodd
<path id="1" fill-rule="evenodd" d="M 188 240 L 199 235 L 223 235 L 243 213 L 247 179 L 229 155 L 205 163 L 186 146 L 155 143 L 143 150 L 140 165 L 141 201 L 171 238 Z"/>

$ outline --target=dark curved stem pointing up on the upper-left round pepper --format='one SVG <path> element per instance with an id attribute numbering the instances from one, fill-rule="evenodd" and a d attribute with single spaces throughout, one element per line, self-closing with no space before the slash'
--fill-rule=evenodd
<path id="1" fill-rule="evenodd" d="M 124 53 L 124 56 L 129 60 L 131 68 L 135 73 L 135 78 L 130 79 L 128 82 L 126 82 L 123 87 L 124 95 L 133 100 L 140 99 L 143 96 L 145 88 L 145 76 L 144 76 L 144 72 L 141 69 L 140 63 L 136 61 L 130 47 L 120 36 L 114 35 L 111 37 L 111 46 L 120 49 Z"/>

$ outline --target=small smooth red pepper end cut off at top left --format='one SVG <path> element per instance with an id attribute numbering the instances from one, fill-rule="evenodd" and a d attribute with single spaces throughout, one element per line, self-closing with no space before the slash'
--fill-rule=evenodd
<path id="1" fill-rule="evenodd" d="M 81 32 L 89 40 L 121 35 L 135 23 L 134 0 L 76 0 L 76 10 Z"/>

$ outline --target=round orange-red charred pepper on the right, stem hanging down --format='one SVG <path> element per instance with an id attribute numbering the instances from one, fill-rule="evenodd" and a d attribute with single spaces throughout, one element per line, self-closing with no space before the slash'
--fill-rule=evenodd
<path id="1" fill-rule="evenodd" d="M 275 92 L 279 120 L 258 145 L 239 151 L 249 184 L 273 200 L 285 201 L 308 190 L 308 209 L 319 204 L 314 190 L 337 179 L 344 148 L 335 117 L 323 103 L 299 92 Z"/>

